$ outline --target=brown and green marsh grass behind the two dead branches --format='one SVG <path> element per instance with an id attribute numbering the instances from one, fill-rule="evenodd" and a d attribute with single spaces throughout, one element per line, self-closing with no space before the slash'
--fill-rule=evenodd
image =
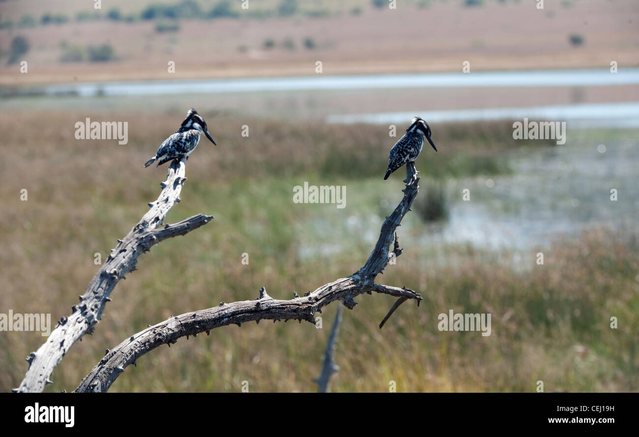
<path id="1" fill-rule="evenodd" d="M 155 199 L 166 168 L 142 169 L 142 163 L 159 132 L 171 130 L 158 127 L 173 127 L 182 113 L 0 116 L 0 308 L 50 312 L 56 320 L 68 315 L 95 274 L 94 254 L 104 259 Z M 86 116 L 135 120 L 128 144 L 75 140 L 73 124 Z M 38 120 L 38 129 L 15 130 L 15 119 Z M 215 219 L 140 258 L 138 271 L 114 290 L 95 333 L 66 354 L 47 391 L 73 390 L 104 349 L 171 314 L 252 299 L 261 286 L 288 298 L 364 263 L 403 187 L 399 177 L 381 180 L 387 128 L 252 119 L 250 137 L 242 138 L 234 123 L 230 116 L 215 121 L 226 127 L 212 130 L 219 147 L 201 142 L 167 222 L 198 212 Z M 532 146 L 514 144 L 511 133 L 509 123 L 438 128 L 441 151 L 418 161 L 422 183 L 509 171 L 509 153 Z M 346 185 L 347 207 L 293 204 L 292 187 L 303 181 Z M 22 188 L 27 201 L 20 201 Z M 472 245 L 448 245 L 434 257 L 417 243 L 426 229 L 417 210 L 409 213 L 399 229 L 404 253 L 379 279 L 412 287 L 424 301 L 419 308 L 403 305 L 380 331 L 394 299 L 360 296 L 344 313 L 334 391 L 384 392 L 390 380 L 401 392 L 533 392 L 538 380 L 549 392 L 639 389 L 636 229 L 557 240 L 544 266 L 535 265 L 537 250 L 530 247 L 520 268 L 512 267 L 507 250 Z M 244 252 L 249 265 L 241 263 Z M 139 359 L 111 391 L 237 392 L 245 380 L 252 392 L 313 391 L 335 305 L 322 314 L 321 330 L 260 323 L 183 339 Z M 438 331 L 437 315 L 451 308 L 491 312 L 492 335 Z M 609 327 L 611 316 L 619 319 L 617 330 Z M 19 385 L 24 357 L 42 341 L 34 332 L 0 335 L 0 391 Z"/>

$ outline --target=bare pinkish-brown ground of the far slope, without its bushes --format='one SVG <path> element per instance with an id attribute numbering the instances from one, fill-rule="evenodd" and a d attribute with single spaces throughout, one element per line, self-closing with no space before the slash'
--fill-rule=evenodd
<path id="1" fill-rule="evenodd" d="M 77 7 L 77 2 L 69 4 Z M 19 17 L 32 7 L 33 2 L 8 2 L 3 12 Z M 400 3 L 397 10 L 365 7 L 360 15 L 316 19 L 182 20 L 180 31 L 171 34 L 155 33 L 151 22 L 71 21 L 0 31 L 3 50 L 15 34 L 26 34 L 32 44 L 29 73 L 2 65 L 0 84 L 308 75 L 318 60 L 325 74 L 459 71 L 463 61 L 470 61 L 472 71 L 608 68 L 612 60 L 623 68 L 639 62 L 638 22 L 639 3 L 633 0 L 583 0 L 571 6 L 547 1 L 542 11 L 531 2 L 489 2 L 478 8 L 458 2 L 427 8 Z M 573 47 L 569 34 L 581 34 L 585 42 Z M 318 47 L 303 49 L 306 37 Z M 264 50 L 267 38 L 278 44 L 292 38 L 297 48 Z M 63 40 L 111 43 L 118 61 L 59 63 Z M 244 52 L 238 50 L 242 46 Z M 171 75 L 169 60 L 176 63 Z"/>

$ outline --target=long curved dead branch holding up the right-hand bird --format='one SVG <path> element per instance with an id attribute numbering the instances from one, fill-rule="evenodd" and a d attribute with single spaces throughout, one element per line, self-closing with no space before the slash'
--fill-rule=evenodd
<path id="1" fill-rule="evenodd" d="M 137 365 L 137 359 L 142 355 L 162 344 L 167 344 L 170 347 L 180 337 L 186 336 L 188 339 L 190 335 L 195 337 L 202 332 L 206 332 L 208 335 L 212 329 L 220 326 L 242 326 L 242 323 L 248 321 L 259 323 L 265 319 L 273 320 L 273 322 L 298 320 L 300 323 L 305 320 L 314 324 L 315 313 L 321 312 L 321 309 L 329 303 L 339 300 L 348 309 L 353 309 L 357 305 L 354 298 L 363 293 L 370 295 L 374 292 L 396 296 L 402 302 L 415 299 L 419 304 L 422 296 L 411 289 L 374 283 L 376 275 L 383 271 L 390 259 L 401 254 L 395 231 L 400 226 L 404 215 L 410 211 L 419 190 L 417 185 L 419 178 L 414 165 L 406 165 L 406 180 L 404 182 L 406 182 L 406 188 L 403 190 L 404 197 L 382 224 L 380 238 L 375 249 L 371 252 L 364 267 L 350 277 L 337 279 L 319 287 L 312 293 L 306 293 L 304 296 L 298 296 L 294 292 L 291 300 L 273 299 L 266 294 L 266 290 L 262 287 L 259 291 L 259 297 L 255 300 L 221 302 L 217 307 L 172 316 L 132 335 L 116 348 L 107 351 L 104 358 L 82 379 L 74 391 L 106 392 L 128 365 Z M 383 323 L 398 306 L 399 303 L 396 302 Z"/>

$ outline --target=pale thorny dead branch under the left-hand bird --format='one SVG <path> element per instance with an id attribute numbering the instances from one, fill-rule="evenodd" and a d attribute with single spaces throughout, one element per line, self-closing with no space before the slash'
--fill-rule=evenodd
<path id="1" fill-rule="evenodd" d="M 157 201 L 150 203 L 150 210 L 122 240 L 118 240 L 115 249 L 93 280 L 80 303 L 73 305 L 72 313 L 58 321 L 58 325 L 40 348 L 27 356 L 29 370 L 20 387 L 14 391 L 42 392 L 49 384 L 50 374 L 73 343 L 82 339 L 86 333 L 93 333 L 96 323 L 102 318 L 104 307 L 111 299 L 111 291 L 120 279 L 135 270 L 137 257 L 148 252 L 160 241 L 178 235 L 185 235 L 210 222 L 212 215 L 194 215 L 176 224 L 159 227 L 173 205 L 180 201 L 180 192 L 185 178 L 186 166 L 183 161 L 174 161 L 168 169 L 166 181 L 160 183 L 162 192 Z"/>

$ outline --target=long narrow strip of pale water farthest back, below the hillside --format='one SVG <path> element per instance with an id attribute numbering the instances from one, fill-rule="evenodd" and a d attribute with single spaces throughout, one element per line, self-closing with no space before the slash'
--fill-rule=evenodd
<path id="1" fill-rule="evenodd" d="M 187 93 L 256 93 L 326 89 L 389 89 L 440 87 L 610 86 L 639 84 L 639 68 L 497 71 L 381 75 L 321 75 L 194 81 L 93 82 L 52 85 L 47 95 L 141 96 Z"/>

